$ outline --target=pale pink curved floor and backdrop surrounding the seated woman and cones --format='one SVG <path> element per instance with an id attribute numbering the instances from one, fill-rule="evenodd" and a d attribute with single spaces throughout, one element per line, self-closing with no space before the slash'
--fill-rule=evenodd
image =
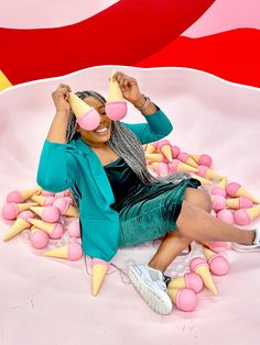
<path id="1" fill-rule="evenodd" d="M 51 92 L 66 82 L 74 91 L 96 89 L 107 96 L 110 69 L 86 69 L 0 94 L 0 205 L 10 190 L 35 185 L 41 147 L 55 111 Z M 210 154 L 214 170 L 260 198 L 259 89 L 192 69 L 118 69 L 137 78 L 141 91 L 169 115 L 174 131 L 166 138 L 182 151 Z M 123 121 L 145 120 L 129 107 Z M 256 225 L 260 220 L 249 229 Z M 1 221 L 1 237 L 8 227 Z M 113 264 L 126 271 L 129 260 L 148 261 L 156 245 L 121 249 Z M 199 247 L 194 245 L 195 249 Z M 25 233 L 8 243 L 0 241 L 0 344 L 257 344 L 259 253 L 230 249 L 225 255 L 230 271 L 214 277 L 217 297 L 204 289 L 194 312 L 174 308 L 162 316 L 147 307 L 117 269 L 111 269 L 94 298 L 84 259 L 69 263 L 42 257 L 29 246 Z M 187 257 L 178 257 L 169 272 L 182 275 L 187 264 Z"/>

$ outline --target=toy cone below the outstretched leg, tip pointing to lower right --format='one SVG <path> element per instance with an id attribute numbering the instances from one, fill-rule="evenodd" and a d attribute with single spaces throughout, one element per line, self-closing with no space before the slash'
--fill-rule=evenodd
<path id="1" fill-rule="evenodd" d="M 205 259 L 202 257 L 193 258 L 191 261 L 191 269 L 203 279 L 206 288 L 212 291 L 214 294 L 217 294 L 217 289 L 213 281 L 213 277 L 209 271 L 209 266 Z"/>

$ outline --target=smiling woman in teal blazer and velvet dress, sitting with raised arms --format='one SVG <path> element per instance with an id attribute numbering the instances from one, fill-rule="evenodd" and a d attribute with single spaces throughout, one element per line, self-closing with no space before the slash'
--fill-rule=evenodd
<path id="1" fill-rule="evenodd" d="M 201 182 L 188 174 L 155 178 L 145 168 L 142 144 L 169 135 L 173 126 L 166 115 L 123 73 L 113 79 L 123 98 L 147 123 L 111 121 L 106 100 L 97 92 L 78 92 L 100 114 L 95 131 L 75 122 L 68 96 L 59 85 L 53 92 L 56 114 L 43 146 L 37 183 L 58 192 L 71 188 L 79 208 L 84 253 L 109 261 L 118 247 L 163 236 L 148 265 L 131 265 L 130 280 L 155 312 L 169 314 L 172 302 L 163 271 L 192 241 L 228 241 L 259 246 L 260 230 L 240 230 L 212 216 L 212 200 Z"/>

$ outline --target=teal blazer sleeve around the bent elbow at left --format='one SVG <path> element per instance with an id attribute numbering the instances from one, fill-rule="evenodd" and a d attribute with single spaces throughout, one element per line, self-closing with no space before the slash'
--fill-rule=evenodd
<path id="1" fill-rule="evenodd" d="M 37 185 L 59 192 L 72 188 L 77 176 L 76 162 L 67 153 L 67 144 L 45 141 L 37 168 Z"/>

